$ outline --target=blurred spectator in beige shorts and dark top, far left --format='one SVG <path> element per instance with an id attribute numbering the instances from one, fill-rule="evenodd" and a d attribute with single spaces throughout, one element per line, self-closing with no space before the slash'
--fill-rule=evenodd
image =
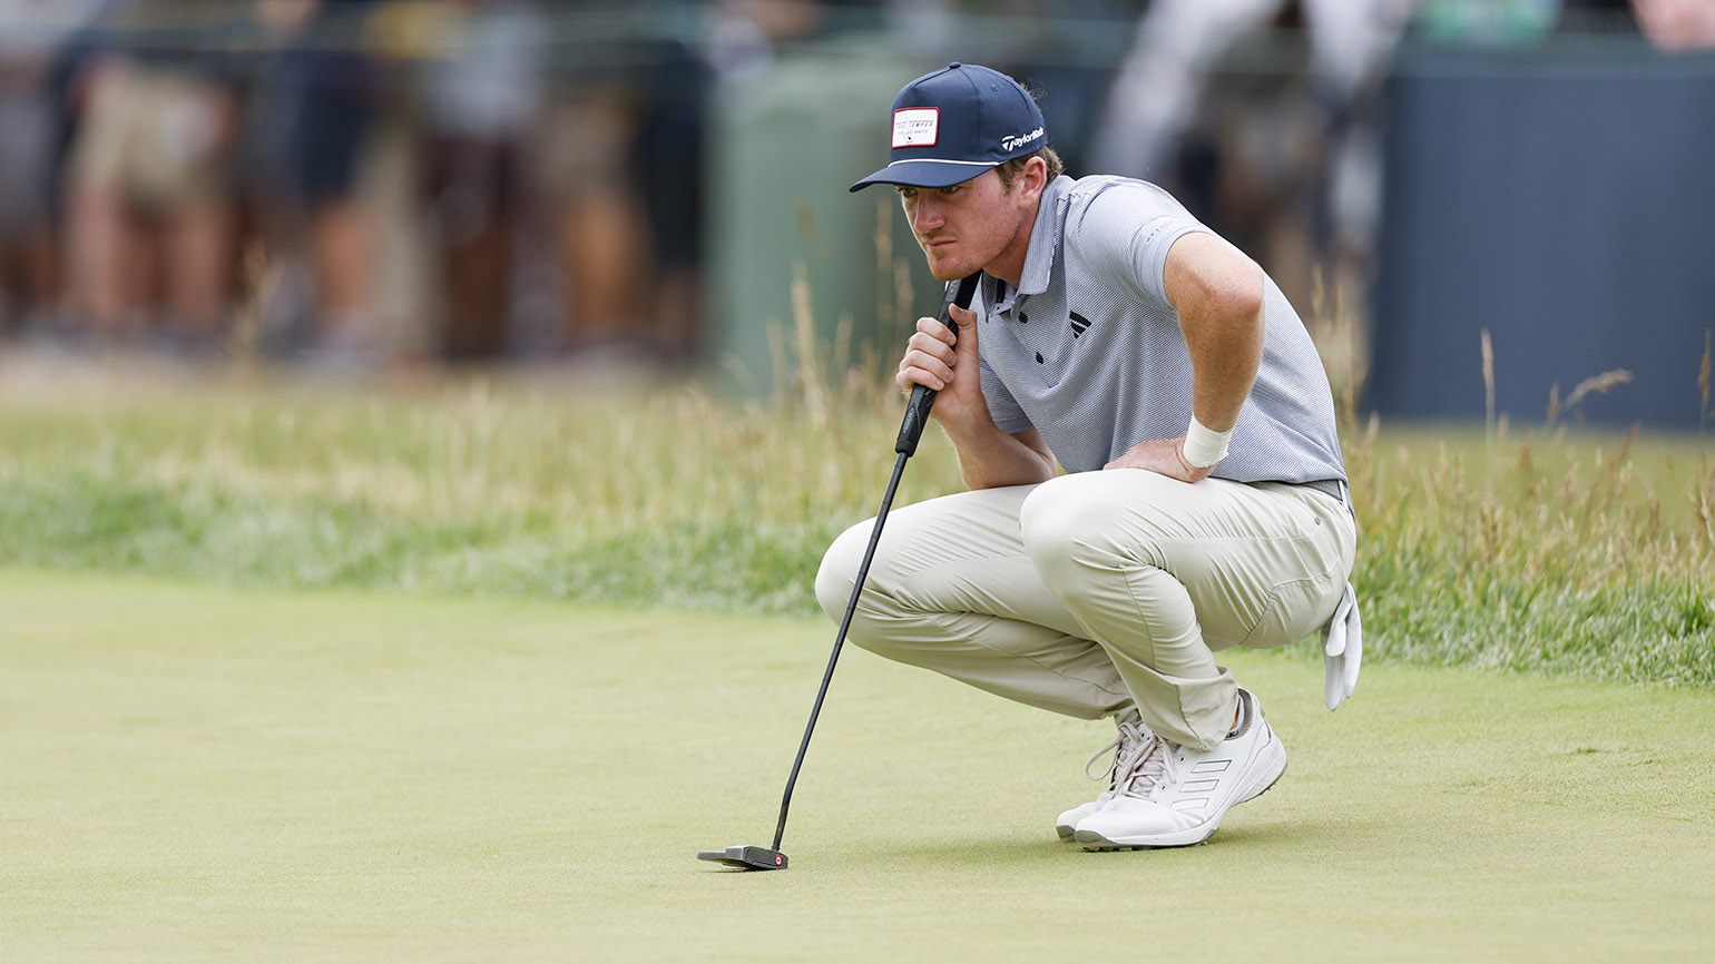
<path id="1" fill-rule="evenodd" d="M 223 7 L 120 0 L 72 81 L 70 310 L 103 340 L 218 345 L 232 302 L 237 77 Z"/>

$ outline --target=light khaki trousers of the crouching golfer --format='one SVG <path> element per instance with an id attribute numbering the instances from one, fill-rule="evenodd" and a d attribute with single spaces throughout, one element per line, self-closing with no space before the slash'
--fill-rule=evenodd
<path id="1" fill-rule="evenodd" d="M 821 561 L 835 619 L 871 527 Z M 1135 705 L 1163 738 L 1209 750 L 1237 696 L 1214 654 L 1319 630 L 1355 542 L 1345 504 L 1279 482 L 1116 468 L 959 492 L 888 515 L 847 638 L 1072 717 Z"/>

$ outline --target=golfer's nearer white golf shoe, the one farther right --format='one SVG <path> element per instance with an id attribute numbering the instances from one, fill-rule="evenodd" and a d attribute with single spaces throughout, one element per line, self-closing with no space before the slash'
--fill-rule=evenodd
<path id="1" fill-rule="evenodd" d="M 1286 772 L 1286 748 L 1255 696 L 1240 690 L 1238 703 L 1238 726 L 1206 753 L 1151 732 L 1135 767 L 1115 775 L 1113 798 L 1075 825 L 1077 842 L 1086 851 L 1200 844 L 1228 810 L 1274 786 Z"/>

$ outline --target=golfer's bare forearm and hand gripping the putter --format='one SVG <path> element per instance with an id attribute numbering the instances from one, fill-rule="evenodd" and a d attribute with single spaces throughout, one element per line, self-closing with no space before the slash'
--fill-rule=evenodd
<path id="1" fill-rule="evenodd" d="M 942 424 L 959 453 L 959 472 L 971 489 L 1032 485 L 1055 477 L 1055 455 L 1036 429 L 1008 434 L 995 424 L 983 396 L 976 352 L 976 312 L 952 307 L 959 336 L 933 317 L 918 321 L 906 357 L 894 376 L 900 391 L 926 384 L 938 391 L 930 417 Z"/>

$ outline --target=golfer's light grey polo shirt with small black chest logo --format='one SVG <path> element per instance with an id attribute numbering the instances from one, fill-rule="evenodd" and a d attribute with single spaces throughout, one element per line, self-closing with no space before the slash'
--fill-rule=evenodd
<path id="1" fill-rule="evenodd" d="M 1152 184 L 1055 178 L 1019 290 L 986 274 L 979 286 L 983 395 L 995 424 L 1034 427 L 1067 472 L 1185 434 L 1190 355 L 1164 271 L 1175 240 L 1207 230 Z M 1298 312 L 1273 280 L 1266 288 L 1262 365 L 1213 475 L 1345 480 L 1327 374 Z"/>

